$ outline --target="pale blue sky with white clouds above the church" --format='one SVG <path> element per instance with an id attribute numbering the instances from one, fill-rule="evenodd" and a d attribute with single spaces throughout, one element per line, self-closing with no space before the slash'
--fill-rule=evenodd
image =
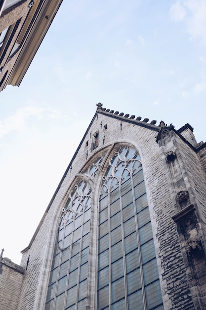
<path id="1" fill-rule="evenodd" d="M 0 93 L 0 249 L 20 263 L 96 103 L 206 142 L 205 0 L 63 0 Z"/>

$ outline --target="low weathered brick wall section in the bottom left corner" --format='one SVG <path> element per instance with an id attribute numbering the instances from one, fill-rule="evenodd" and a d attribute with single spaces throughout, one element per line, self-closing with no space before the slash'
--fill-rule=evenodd
<path id="1" fill-rule="evenodd" d="M 0 258 L 0 309 L 15 310 L 24 268 L 8 258 Z"/>

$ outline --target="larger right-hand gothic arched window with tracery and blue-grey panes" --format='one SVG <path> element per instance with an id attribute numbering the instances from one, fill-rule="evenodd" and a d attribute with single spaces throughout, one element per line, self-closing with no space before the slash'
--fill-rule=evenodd
<path id="1" fill-rule="evenodd" d="M 140 156 L 119 147 L 99 200 L 98 310 L 163 310 Z"/>

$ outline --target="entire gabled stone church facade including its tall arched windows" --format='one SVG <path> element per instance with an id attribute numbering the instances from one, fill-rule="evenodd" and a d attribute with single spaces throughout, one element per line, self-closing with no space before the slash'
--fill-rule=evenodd
<path id="1" fill-rule="evenodd" d="M 22 254 L 11 310 L 206 309 L 206 143 L 98 103 Z"/>

